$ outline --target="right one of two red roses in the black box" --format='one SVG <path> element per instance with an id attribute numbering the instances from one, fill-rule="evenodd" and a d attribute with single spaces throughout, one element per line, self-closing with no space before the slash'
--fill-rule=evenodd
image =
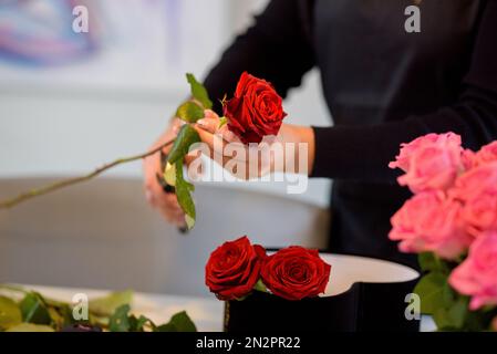
<path id="1" fill-rule="evenodd" d="M 324 292 L 330 270 L 317 250 L 292 246 L 266 258 L 260 274 L 275 295 L 302 300 Z"/>

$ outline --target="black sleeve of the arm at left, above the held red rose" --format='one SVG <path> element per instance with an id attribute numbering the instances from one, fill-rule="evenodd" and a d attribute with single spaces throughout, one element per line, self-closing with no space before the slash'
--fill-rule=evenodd
<path id="1" fill-rule="evenodd" d="M 235 91 L 244 71 L 271 82 L 283 97 L 314 65 L 310 1 L 272 0 L 255 24 L 237 37 L 211 69 L 205 85 L 219 113 L 218 100 Z"/>

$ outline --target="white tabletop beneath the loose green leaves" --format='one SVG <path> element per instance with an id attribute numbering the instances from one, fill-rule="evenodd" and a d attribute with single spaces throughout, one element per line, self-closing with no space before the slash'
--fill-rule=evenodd
<path id="1" fill-rule="evenodd" d="M 104 296 L 110 291 L 77 288 L 56 288 L 44 285 L 21 285 L 35 290 L 42 295 L 65 302 L 71 302 L 76 293 L 84 293 L 92 298 Z M 135 292 L 132 312 L 143 314 L 155 323 L 166 323 L 177 312 L 186 311 L 200 332 L 222 331 L 224 302 L 214 298 L 178 296 L 168 294 L 152 294 Z M 435 325 L 429 316 L 423 316 L 421 331 L 431 332 Z"/>

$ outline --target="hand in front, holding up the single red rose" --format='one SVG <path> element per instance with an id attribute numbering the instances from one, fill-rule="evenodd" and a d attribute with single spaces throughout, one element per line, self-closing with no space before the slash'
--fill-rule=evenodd
<path id="1" fill-rule="evenodd" d="M 200 138 L 209 147 L 209 157 L 240 179 L 251 179 L 270 173 L 309 175 L 314 159 L 312 128 L 282 124 L 278 136 L 260 144 L 245 145 L 213 111 L 205 111 L 196 124 Z M 206 153 L 206 152 L 203 152 Z"/>

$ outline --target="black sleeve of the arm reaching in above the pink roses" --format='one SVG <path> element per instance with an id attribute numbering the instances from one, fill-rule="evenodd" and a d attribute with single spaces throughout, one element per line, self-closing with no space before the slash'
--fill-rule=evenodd
<path id="1" fill-rule="evenodd" d="M 478 149 L 497 139 L 497 1 L 482 17 L 470 67 L 458 101 L 423 116 L 372 126 L 314 127 L 313 177 L 393 183 L 387 167 L 401 143 L 427 133 L 454 132 Z"/>

